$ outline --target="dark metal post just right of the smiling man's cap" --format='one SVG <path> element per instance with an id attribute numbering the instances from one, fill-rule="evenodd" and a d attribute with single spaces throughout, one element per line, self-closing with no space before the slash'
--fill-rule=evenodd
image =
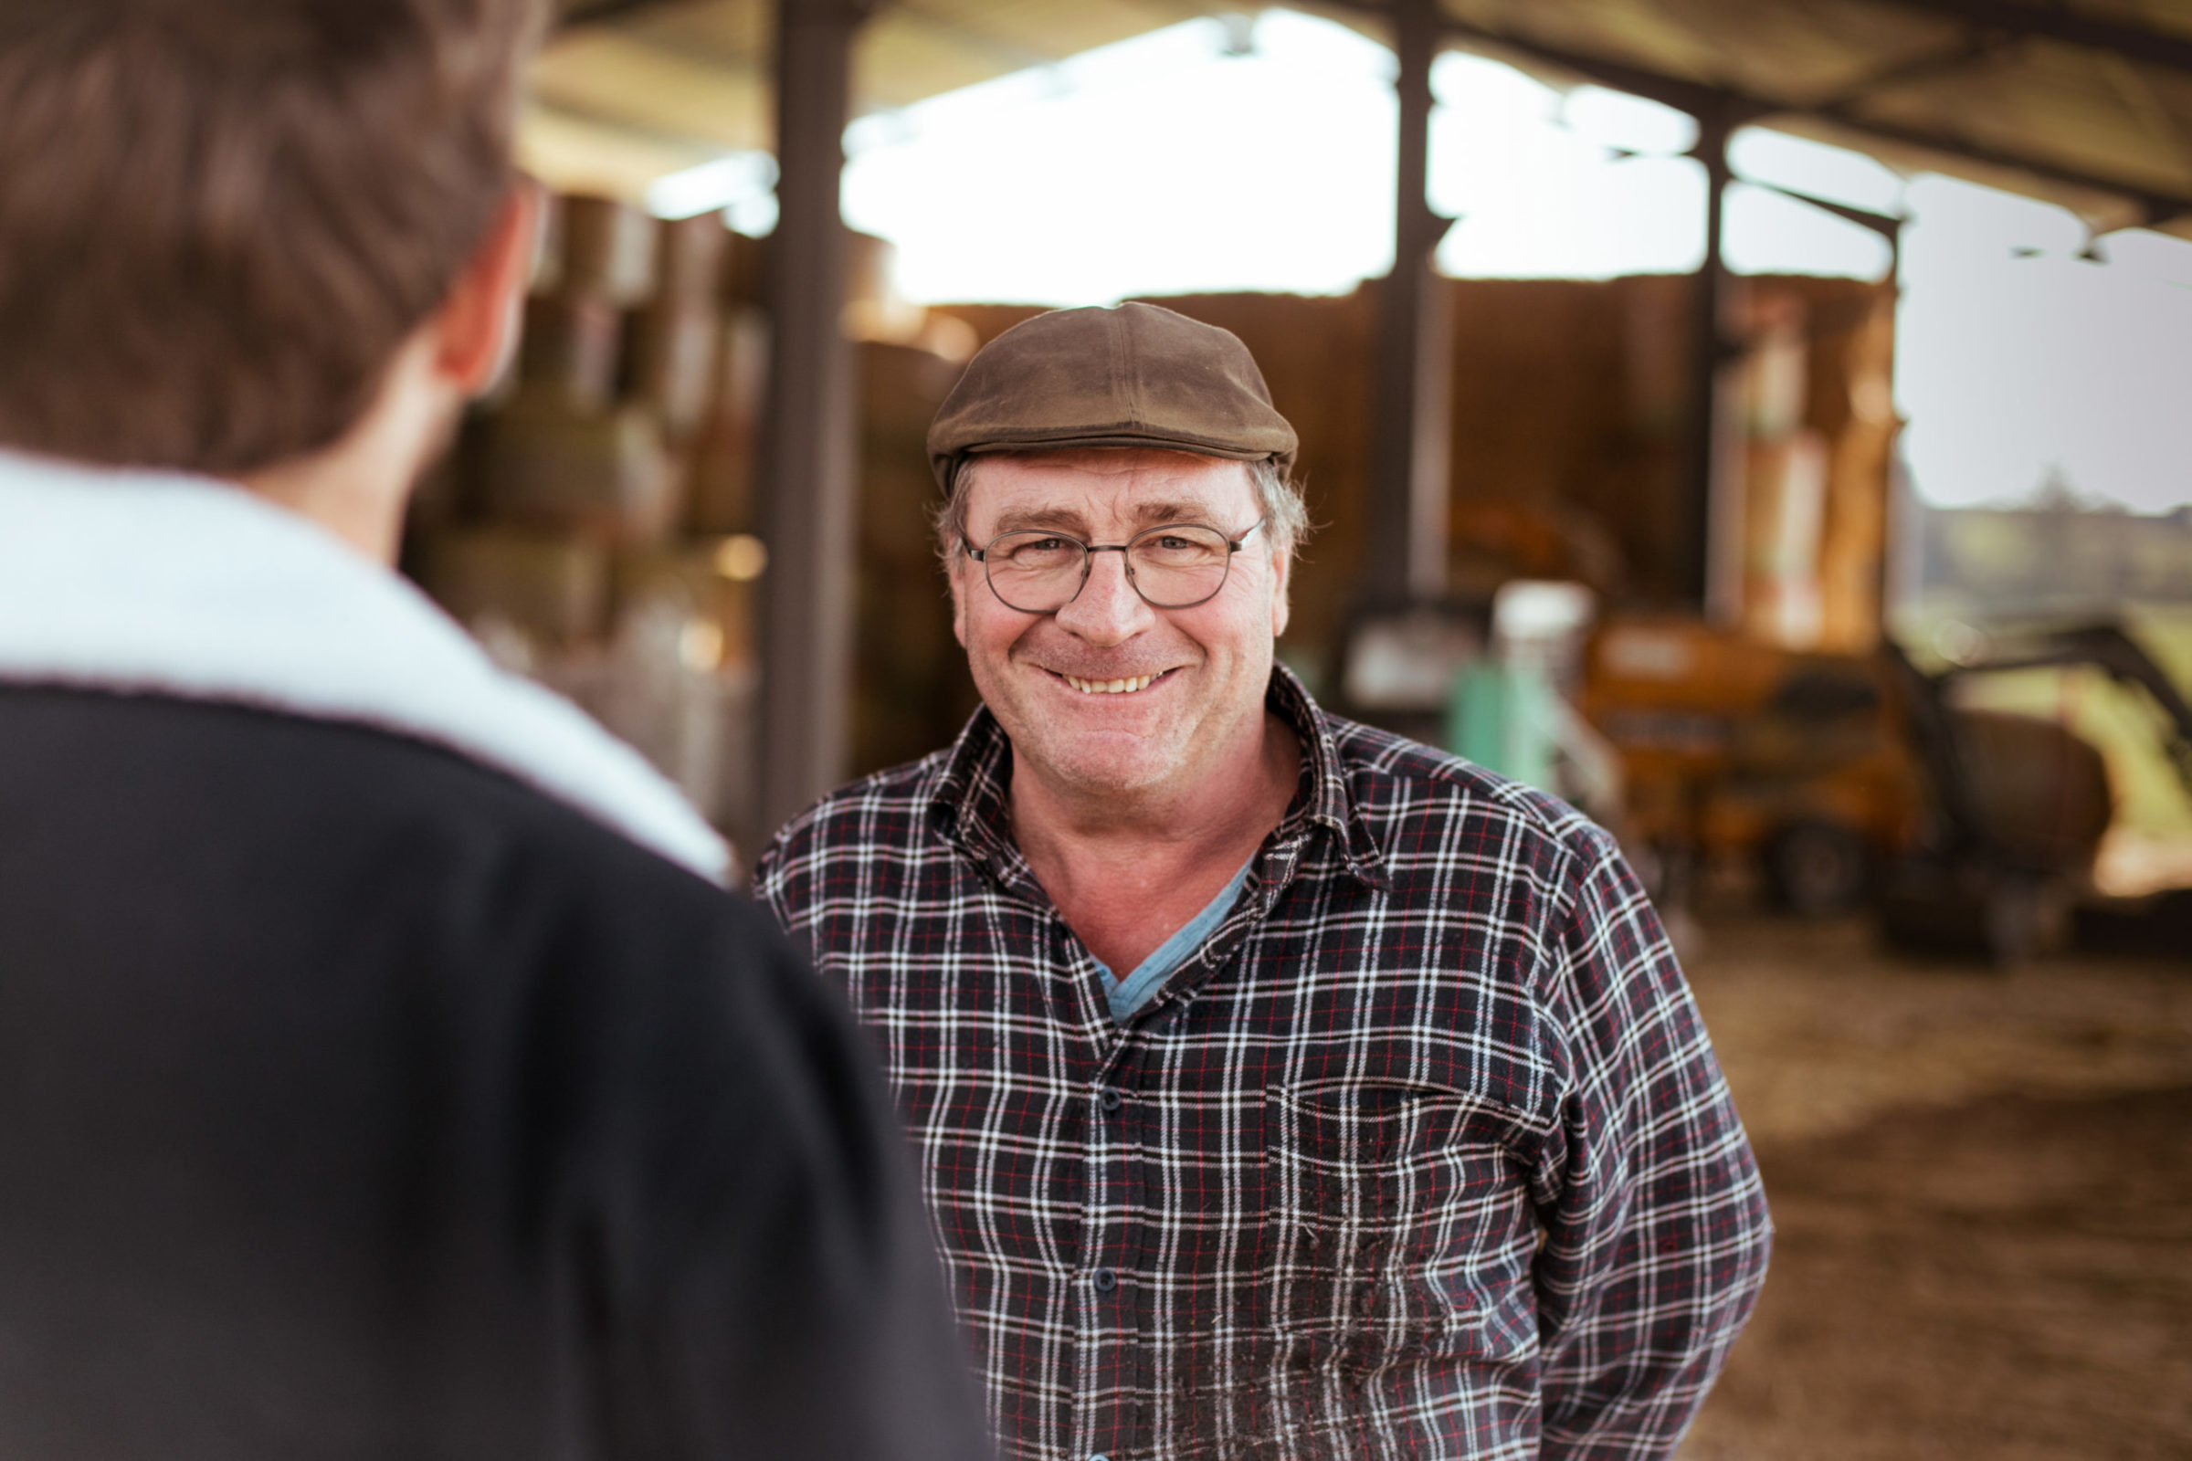
<path id="1" fill-rule="evenodd" d="M 1431 59 L 1445 22 L 1438 0 L 1398 0 L 1398 164 L 1392 276 L 1379 291 L 1377 456 L 1363 598 L 1447 591 L 1447 495 L 1453 453 L 1453 291 L 1431 272 L 1451 219 L 1425 195 L 1431 151 Z"/>

